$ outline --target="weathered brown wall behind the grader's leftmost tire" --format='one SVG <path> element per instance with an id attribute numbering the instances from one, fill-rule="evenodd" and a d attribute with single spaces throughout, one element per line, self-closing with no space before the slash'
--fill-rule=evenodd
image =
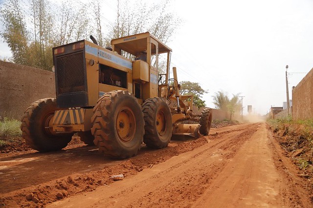
<path id="1" fill-rule="evenodd" d="M 0 61 L 0 116 L 21 119 L 41 98 L 55 98 L 54 73 Z"/>

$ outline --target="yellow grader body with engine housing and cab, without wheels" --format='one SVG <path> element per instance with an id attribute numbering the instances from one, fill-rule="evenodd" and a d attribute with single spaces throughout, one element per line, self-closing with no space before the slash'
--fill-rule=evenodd
<path id="1" fill-rule="evenodd" d="M 55 112 L 53 131 L 90 130 L 92 108 L 112 90 L 128 90 L 139 104 L 158 97 L 158 55 L 169 57 L 172 49 L 149 32 L 111 44 L 112 50 L 86 40 L 53 48 L 57 106 L 63 108 Z M 125 53 L 131 58 L 122 56 Z"/>

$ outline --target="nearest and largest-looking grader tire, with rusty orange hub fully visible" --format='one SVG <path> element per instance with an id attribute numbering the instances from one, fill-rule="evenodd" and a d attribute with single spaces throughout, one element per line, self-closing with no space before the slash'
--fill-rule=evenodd
<path id="1" fill-rule="evenodd" d="M 141 106 L 128 91 L 104 94 L 93 108 L 91 133 L 94 144 L 105 156 L 133 157 L 143 142 L 144 121 Z"/>

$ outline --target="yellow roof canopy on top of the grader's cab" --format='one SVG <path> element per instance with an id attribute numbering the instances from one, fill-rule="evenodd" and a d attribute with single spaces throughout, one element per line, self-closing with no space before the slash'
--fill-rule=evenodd
<path id="1" fill-rule="evenodd" d="M 113 51 L 121 54 L 121 50 L 126 51 L 134 56 L 137 56 L 140 52 L 147 52 L 149 54 L 149 44 L 151 45 L 151 55 L 156 54 L 156 43 L 158 45 L 158 53 L 171 52 L 172 49 L 165 45 L 163 42 L 158 40 L 155 36 L 149 32 L 139 33 L 127 37 L 113 39 L 111 45 Z"/>

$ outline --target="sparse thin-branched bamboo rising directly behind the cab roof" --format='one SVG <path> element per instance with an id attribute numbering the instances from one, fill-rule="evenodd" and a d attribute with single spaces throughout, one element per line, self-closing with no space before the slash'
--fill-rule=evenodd
<path id="1" fill-rule="evenodd" d="M 149 6 L 145 1 L 136 1 L 134 4 L 129 0 L 118 0 L 116 21 L 106 43 L 110 44 L 112 39 L 146 31 L 166 43 L 181 24 L 181 19 L 173 12 L 167 11 L 169 4 L 169 0 Z"/>

